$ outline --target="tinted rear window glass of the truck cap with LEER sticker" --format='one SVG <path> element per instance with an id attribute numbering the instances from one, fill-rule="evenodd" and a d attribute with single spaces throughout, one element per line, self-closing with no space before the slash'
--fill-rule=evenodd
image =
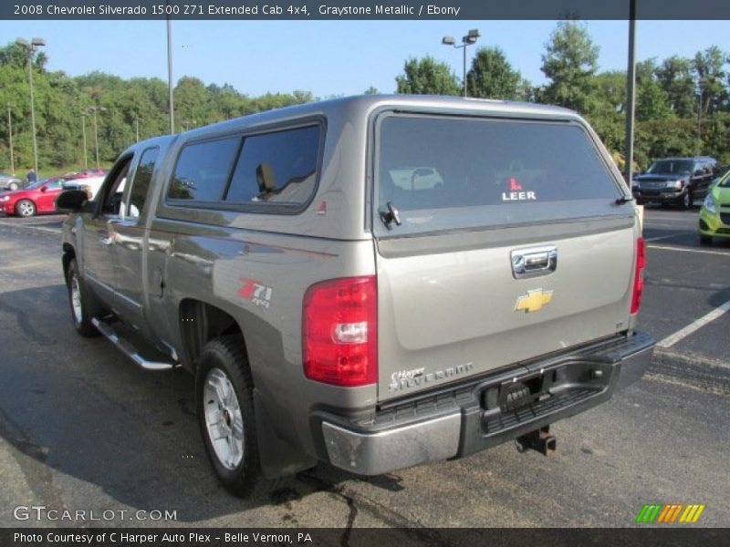
<path id="1" fill-rule="evenodd" d="M 621 195 L 571 123 L 391 115 L 377 137 L 377 203 L 403 221 L 393 233 L 610 214 Z"/>

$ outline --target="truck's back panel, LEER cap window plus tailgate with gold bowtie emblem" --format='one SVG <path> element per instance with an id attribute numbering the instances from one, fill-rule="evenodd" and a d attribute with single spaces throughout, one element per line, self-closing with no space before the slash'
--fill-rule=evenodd
<path id="1" fill-rule="evenodd" d="M 586 129 L 392 115 L 376 134 L 380 400 L 628 328 L 634 210 Z"/>

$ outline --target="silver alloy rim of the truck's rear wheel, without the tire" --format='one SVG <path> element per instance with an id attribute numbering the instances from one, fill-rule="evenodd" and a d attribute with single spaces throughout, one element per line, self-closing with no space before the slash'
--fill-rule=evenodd
<path id="1" fill-rule="evenodd" d="M 220 368 L 211 368 L 203 387 L 205 427 L 215 456 L 227 470 L 244 459 L 244 418 L 231 380 Z"/>

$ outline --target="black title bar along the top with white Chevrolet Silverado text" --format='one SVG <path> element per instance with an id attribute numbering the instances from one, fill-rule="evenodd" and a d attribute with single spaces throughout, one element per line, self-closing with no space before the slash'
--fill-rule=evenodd
<path id="1" fill-rule="evenodd" d="M 730 19 L 718 0 L 5 0 L 8 20 Z"/>

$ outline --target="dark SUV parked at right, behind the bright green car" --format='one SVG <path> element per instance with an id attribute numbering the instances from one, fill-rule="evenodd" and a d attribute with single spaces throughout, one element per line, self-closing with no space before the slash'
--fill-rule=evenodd
<path id="1" fill-rule="evenodd" d="M 690 209 L 694 200 L 707 195 L 718 170 L 717 160 L 707 156 L 656 160 L 633 178 L 633 196 L 640 203 L 673 203 Z"/>

